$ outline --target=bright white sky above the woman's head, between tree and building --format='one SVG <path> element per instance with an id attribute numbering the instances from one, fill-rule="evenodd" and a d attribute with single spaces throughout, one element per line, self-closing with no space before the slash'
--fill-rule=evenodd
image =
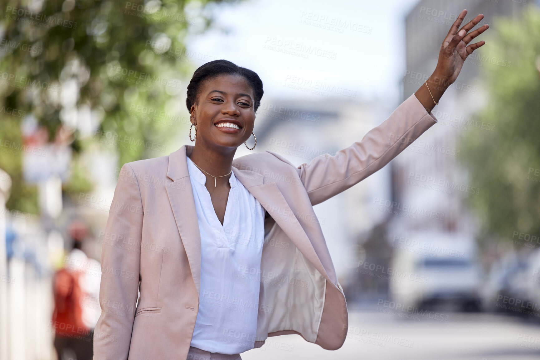
<path id="1" fill-rule="evenodd" d="M 418 0 L 247 0 L 214 9 L 188 38 L 200 66 L 227 59 L 257 72 L 265 97 L 401 100 L 404 17 Z M 321 92 L 322 89 L 322 92 Z M 327 93 L 324 95 L 324 93 Z"/>

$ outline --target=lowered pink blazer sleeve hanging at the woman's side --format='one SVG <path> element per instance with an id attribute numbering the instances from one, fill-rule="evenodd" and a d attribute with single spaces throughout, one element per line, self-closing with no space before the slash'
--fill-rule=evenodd
<path id="1" fill-rule="evenodd" d="M 124 164 L 109 210 L 102 244 L 99 304 L 94 331 L 94 360 L 125 360 L 129 354 L 140 276 L 140 252 L 124 239 L 141 243 L 143 205 L 135 172 Z"/>

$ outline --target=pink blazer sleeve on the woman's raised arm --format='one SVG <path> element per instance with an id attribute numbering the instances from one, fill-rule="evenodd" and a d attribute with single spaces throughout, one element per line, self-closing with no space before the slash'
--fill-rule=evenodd
<path id="1" fill-rule="evenodd" d="M 361 141 L 335 156 L 323 154 L 300 165 L 300 179 L 312 205 L 345 191 L 388 164 L 436 122 L 433 113 L 428 113 L 412 94 Z"/>

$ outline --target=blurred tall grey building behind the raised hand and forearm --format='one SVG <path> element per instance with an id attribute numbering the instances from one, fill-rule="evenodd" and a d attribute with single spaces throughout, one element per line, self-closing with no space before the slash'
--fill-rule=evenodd
<path id="1" fill-rule="evenodd" d="M 433 73 L 442 41 L 463 9 L 468 12 L 461 26 L 482 13 L 484 18 L 474 29 L 489 24 L 489 32 L 494 31 L 497 17 L 518 15 L 525 9 L 523 3 L 509 0 L 422 0 L 417 3 L 405 20 L 406 71 L 402 79 L 402 99 L 416 92 Z M 471 43 L 482 38 L 483 35 Z M 460 140 L 466 132 L 489 138 L 499 131 L 494 124 L 477 119 L 477 112 L 486 103 L 486 91 L 480 74 L 488 66 L 515 66 L 507 59 L 491 58 L 482 50 L 476 50 L 467 58 L 459 77 L 444 93 L 440 104 L 435 106 L 433 114 L 438 123 L 393 161 L 392 200 L 398 204 L 398 209 L 419 209 L 415 216 L 392 216 L 388 234 L 392 246 L 401 248 L 396 249 L 398 252 L 419 253 L 419 246 L 414 248 L 411 244 L 430 241 L 419 240 L 426 239 L 427 233 L 433 243 L 446 239 L 442 248 L 450 249 L 449 252 L 462 246 L 458 246 L 458 242 L 475 243 L 480 223 L 468 208 L 467 200 L 485 189 L 473 184 L 460 164 L 460 160 L 468 155 L 461 150 Z M 396 246 L 407 242 L 409 247 Z M 431 246 L 430 243 L 425 245 L 426 248 Z M 465 254 L 465 258 L 478 261 L 474 256 L 474 246 L 470 249 L 470 254 Z M 441 257 L 442 254 L 430 255 Z M 416 261 L 420 265 L 404 264 L 403 267 L 413 272 L 423 271 L 425 269 L 421 264 L 430 262 L 426 259 Z M 440 263 L 443 263 L 442 260 Z M 470 269 L 474 267 L 472 263 L 463 262 L 465 265 Z M 396 267 L 395 264 L 393 266 Z M 394 289 L 393 295 L 397 288 L 397 283 L 390 283 L 390 289 Z"/>

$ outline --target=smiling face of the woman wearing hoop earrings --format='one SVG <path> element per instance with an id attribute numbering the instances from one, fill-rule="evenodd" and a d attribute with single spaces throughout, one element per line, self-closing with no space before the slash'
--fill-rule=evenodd
<path id="1" fill-rule="evenodd" d="M 236 149 L 246 141 L 255 123 L 254 91 L 239 75 L 222 74 L 200 84 L 191 106 L 197 126 L 195 146 Z"/>

